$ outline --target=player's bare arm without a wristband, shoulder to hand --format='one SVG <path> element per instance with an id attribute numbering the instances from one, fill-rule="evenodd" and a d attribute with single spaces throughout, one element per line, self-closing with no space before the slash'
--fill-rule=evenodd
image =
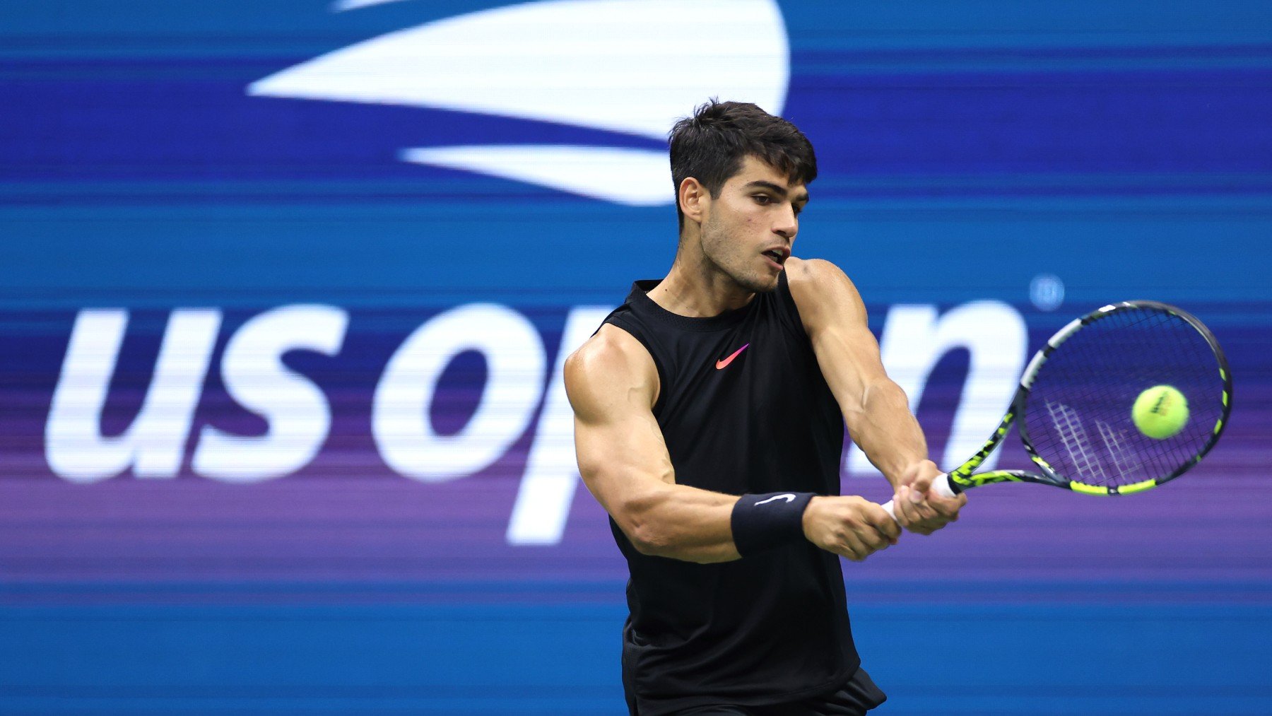
<path id="1" fill-rule="evenodd" d="M 922 495 L 940 471 L 927 459 L 927 440 L 909 412 L 904 390 L 884 370 L 879 343 L 870 333 L 865 305 L 852 281 L 834 265 L 818 259 L 791 258 L 786 271 L 791 296 L 848 434 L 895 490 L 902 524 L 927 533 L 958 519 L 965 497 Z"/>

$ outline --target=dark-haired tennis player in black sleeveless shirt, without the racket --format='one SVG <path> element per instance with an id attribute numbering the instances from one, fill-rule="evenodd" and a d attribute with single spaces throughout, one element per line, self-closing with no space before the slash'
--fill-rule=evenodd
<path id="1" fill-rule="evenodd" d="M 579 469 L 627 558 L 631 713 L 864 713 L 838 557 L 899 528 L 840 495 L 843 429 L 930 534 L 965 501 L 888 379 L 847 276 L 791 256 L 808 139 L 754 104 L 709 102 L 670 132 L 681 235 L 667 277 L 566 361 Z"/>

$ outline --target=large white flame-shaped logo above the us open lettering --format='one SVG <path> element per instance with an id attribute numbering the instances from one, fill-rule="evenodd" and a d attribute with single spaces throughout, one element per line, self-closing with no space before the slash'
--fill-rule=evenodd
<path id="1" fill-rule="evenodd" d="M 399 0 L 342 0 L 350 10 Z M 780 114 L 790 81 L 775 0 L 547 0 L 469 13 L 336 50 L 248 94 L 453 109 L 663 140 L 707 97 Z M 665 150 L 403 149 L 463 169 L 632 206 L 670 203 Z"/>

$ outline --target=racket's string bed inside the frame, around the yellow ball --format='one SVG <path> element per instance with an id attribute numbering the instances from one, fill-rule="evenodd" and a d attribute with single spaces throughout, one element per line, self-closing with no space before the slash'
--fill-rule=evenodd
<path id="1" fill-rule="evenodd" d="M 1158 440 L 1136 427 L 1144 390 L 1172 385 L 1188 401 L 1183 429 Z M 1206 337 L 1154 308 L 1119 309 L 1068 337 L 1039 369 L 1023 420 L 1034 451 L 1061 476 L 1121 486 L 1178 474 L 1210 444 L 1222 379 Z"/>

